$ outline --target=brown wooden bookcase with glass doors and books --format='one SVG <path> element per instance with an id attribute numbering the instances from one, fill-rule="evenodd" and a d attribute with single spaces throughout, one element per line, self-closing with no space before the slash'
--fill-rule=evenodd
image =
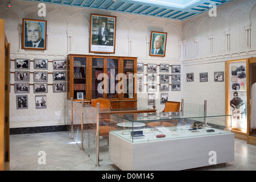
<path id="1" fill-rule="evenodd" d="M 68 55 L 68 100 L 108 98 L 113 108 L 137 107 L 137 57 Z M 125 79 L 127 78 L 127 79 Z M 129 78 L 129 79 L 128 79 Z"/>

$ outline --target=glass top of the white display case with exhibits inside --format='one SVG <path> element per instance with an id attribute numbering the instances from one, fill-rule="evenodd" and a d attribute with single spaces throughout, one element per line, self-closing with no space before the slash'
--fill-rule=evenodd
<path id="1" fill-rule="evenodd" d="M 168 112 L 112 114 L 110 133 L 129 142 L 191 138 L 206 135 L 226 134 L 231 131 L 231 115 Z"/>

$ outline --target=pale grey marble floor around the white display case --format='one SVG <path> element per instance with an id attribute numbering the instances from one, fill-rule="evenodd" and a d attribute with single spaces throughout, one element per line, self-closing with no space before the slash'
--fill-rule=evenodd
<path id="1" fill-rule="evenodd" d="M 77 138 L 79 135 L 73 137 Z M 91 146 L 84 146 L 84 150 L 81 150 L 81 143 L 77 141 L 79 140 L 71 139 L 68 131 L 10 135 L 10 171 L 119 171 L 109 162 L 106 138 L 100 140 L 100 166 L 96 166 L 96 140 L 90 138 Z M 45 160 L 42 158 L 44 154 Z M 217 164 L 189 170 L 256 170 L 256 146 L 235 139 L 234 156 L 234 162 L 227 163 L 226 166 Z"/>

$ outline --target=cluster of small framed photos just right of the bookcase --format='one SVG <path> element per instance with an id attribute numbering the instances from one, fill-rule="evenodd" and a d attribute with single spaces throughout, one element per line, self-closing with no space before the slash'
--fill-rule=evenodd
<path id="1" fill-rule="evenodd" d="M 144 66 L 146 66 L 146 71 L 144 71 Z M 180 91 L 180 81 L 180 65 L 137 64 L 137 92 L 138 94 L 148 93 L 148 105 L 154 105 L 155 100 L 160 100 L 160 104 L 165 104 L 168 101 L 169 91 Z"/>

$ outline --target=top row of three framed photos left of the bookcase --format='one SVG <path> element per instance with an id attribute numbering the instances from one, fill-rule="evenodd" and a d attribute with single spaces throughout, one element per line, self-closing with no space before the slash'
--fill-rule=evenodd
<path id="1" fill-rule="evenodd" d="M 67 60 L 53 60 L 53 70 L 67 69 Z M 48 69 L 48 59 L 34 59 L 34 69 Z M 15 59 L 15 69 L 30 69 L 30 59 Z"/>

